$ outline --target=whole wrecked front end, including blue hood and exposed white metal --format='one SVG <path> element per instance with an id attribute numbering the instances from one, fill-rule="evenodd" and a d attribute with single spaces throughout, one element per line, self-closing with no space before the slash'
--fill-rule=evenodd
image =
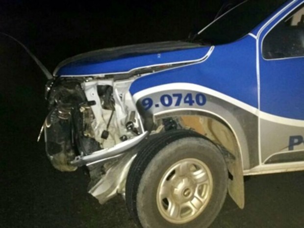
<path id="1" fill-rule="evenodd" d="M 202 51 L 189 54 L 189 49 L 198 47 L 180 41 L 131 45 L 60 63 L 45 93 L 50 110 L 44 123 L 46 151 L 54 168 L 86 166 L 89 192 L 100 203 L 124 194 L 136 145 L 151 132 L 129 92 L 132 82 L 196 61 Z"/>

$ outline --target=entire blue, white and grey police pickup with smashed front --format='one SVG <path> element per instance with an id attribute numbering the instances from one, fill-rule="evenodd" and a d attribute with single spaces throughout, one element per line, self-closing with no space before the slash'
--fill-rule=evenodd
<path id="1" fill-rule="evenodd" d="M 90 172 L 144 228 L 206 228 L 243 177 L 304 170 L 304 0 L 226 4 L 187 41 L 61 62 L 46 85 L 53 166 Z"/>

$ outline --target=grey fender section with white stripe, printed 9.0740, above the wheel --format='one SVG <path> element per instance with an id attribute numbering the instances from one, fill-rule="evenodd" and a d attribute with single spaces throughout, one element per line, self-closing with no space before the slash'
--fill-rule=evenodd
<path id="1" fill-rule="evenodd" d="M 152 129 L 155 120 L 160 116 L 196 113 L 217 118 L 233 132 L 243 169 L 253 168 L 258 165 L 257 110 L 229 97 L 225 100 L 219 98 L 216 96 L 218 94 L 203 86 L 172 83 L 141 91 L 133 98 L 148 130 Z"/>

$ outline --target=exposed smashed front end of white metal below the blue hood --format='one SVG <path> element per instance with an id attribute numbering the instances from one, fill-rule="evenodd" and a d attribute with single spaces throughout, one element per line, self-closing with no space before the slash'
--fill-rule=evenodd
<path id="1" fill-rule="evenodd" d="M 46 152 L 54 168 L 75 171 L 79 166 L 87 166 L 92 179 L 89 187 L 95 189 L 95 184 L 109 175 L 108 170 L 124 170 L 133 156 L 126 156 L 126 151 L 148 134 L 128 93 L 133 80 L 57 77 L 47 83 L 50 112 L 44 133 Z M 122 181 L 109 180 L 115 182 L 113 188 Z M 107 196 L 99 198 L 100 202 Z"/>

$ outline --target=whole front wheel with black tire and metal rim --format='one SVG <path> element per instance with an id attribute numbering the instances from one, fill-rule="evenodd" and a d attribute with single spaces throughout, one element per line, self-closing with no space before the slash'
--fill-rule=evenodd
<path id="1" fill-rule="evenodd" d="M 227 195 L 228 170 L 202 135 L 172 130 L 147 140 L 127 176 L 126 203 L 143 228 L 207 228 Z"/>

